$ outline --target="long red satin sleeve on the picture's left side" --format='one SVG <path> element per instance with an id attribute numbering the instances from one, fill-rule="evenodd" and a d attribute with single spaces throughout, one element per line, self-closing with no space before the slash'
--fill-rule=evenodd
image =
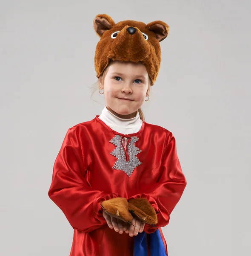
<path id="1" fill-rule="evenodd" d="M 76 131 L 68 129 L 53 167 L 48 196 L 63 211 L 74 229 L 91 232 L 106 224 L 100 202 L 120 197 L 92 189 L 84 177 L 83 154 Z"/>

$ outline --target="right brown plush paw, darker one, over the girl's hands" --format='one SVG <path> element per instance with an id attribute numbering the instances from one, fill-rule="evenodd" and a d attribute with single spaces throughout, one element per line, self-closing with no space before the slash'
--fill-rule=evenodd
<path id="1" fill-rule="evenodd" d="M 147 224 L 154 226 L 154 224 L 157 224 L 158 222 L 157 213 L 146 198 L 129 200 L 128 209 L 132 215 L 135 215 Z"/>

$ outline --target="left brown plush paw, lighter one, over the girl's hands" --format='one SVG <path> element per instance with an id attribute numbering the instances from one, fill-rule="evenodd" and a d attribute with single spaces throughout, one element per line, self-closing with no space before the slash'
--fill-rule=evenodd
<path id="1" fill-rule="evenodd" d="M 126 198 L 112 198 L 101 202 L 100 205 L 110 216 L 131 224 L 133 217 L 128 211 L 128 201 Z"/>

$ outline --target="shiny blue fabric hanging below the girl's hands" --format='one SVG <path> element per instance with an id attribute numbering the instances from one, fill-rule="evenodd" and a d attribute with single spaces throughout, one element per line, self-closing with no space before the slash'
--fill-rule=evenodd
<path id="1" fill-rule="evenodd" d="M 150 237 L 151 256 L 167 256 L 159 229 L 151 234 L 146 234 L 145 231 L 143 231 L 134 237 L 134 256 L 148 256 L 146 236 Z"/>

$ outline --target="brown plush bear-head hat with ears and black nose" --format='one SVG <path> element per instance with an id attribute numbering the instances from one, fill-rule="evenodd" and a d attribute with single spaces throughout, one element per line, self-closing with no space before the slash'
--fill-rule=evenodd
<path id="1" fill-rule="evenodd" d="M 110 60 L 141 61 L 151 79 L 151 85 L 157 79 L 163 41 L 169 26 L 160 20 L 145 24 L 141 21 L 124 20 L 115 23 L 106 14 L 97 15 L 93 21 L 94 29 L 100 36 L 97 43 L 94 65 L 99 78 Z"/>

